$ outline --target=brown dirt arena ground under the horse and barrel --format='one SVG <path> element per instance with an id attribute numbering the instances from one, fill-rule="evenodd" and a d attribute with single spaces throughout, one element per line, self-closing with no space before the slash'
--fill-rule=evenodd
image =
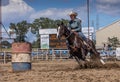
<path id="1" fill-rule="evenodd" d="M 0 65 L 0 82 L 120 82 L 120 62 L 79 68 L 75 60 L 39 61 L 32 70 L 11 72 L 11 65 Z"/>

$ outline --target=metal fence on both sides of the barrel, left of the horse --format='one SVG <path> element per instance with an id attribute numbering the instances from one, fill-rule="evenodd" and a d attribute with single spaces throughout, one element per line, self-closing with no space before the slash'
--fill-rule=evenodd
<path id="1" fill-rule="evenodd" d="M 32 61 L 36 60 L 55 60 L 55 59 L 68 59 L 69 51 L 63 49 L 38 49 L 31 52 Z M 0 52 L 0 63 L 5 64 L 11 62 L 11 52 Z"/>

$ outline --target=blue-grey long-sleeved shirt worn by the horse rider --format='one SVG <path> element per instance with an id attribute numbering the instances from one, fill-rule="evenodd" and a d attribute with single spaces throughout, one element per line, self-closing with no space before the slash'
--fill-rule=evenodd
<path id="1" fill-rule="evenodd" d="M 70 20 L 68 23 L 68 28 L 74 30 L 76 32 L 81 32 L 81 20 L 75 18 L 74 20 Z"/>

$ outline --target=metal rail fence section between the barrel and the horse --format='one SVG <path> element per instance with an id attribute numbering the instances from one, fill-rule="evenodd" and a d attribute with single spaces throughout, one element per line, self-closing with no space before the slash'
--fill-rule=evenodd
<path id="1" fill-rule="evenodd" d="M 69 51 L 63 49 L 38 49 L 32 52 L 32 60 L 68 59 Z"/>

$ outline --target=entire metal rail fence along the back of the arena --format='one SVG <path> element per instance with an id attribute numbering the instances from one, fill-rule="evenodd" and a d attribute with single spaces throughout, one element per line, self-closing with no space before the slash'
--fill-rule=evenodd
<path id="1" fill-rule="evenodd" d="M 99 52 L 104 60 L 116 60 L 115 50 L 111 52 Z M 37 49 L 36 51 L 33 50 L 31 52 L 31 57 L 32 61 L 69 59 L 69 51 L 67 49 Z M 11 52 L 0 52 L 1 64 L 11 62 L 11 58 Z"/>

